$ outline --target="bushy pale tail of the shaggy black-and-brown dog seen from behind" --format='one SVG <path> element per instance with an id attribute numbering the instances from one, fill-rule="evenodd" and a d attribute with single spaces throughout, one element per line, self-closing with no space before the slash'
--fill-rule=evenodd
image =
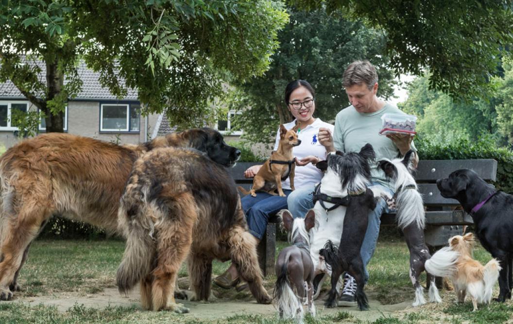
<path id="1" fill-rule="evenodd" d="M 118 221 L 127 243 L 116 273 L 116 284 L 120 293 L 128 293 L 144 279 L 150 273 L 155 260 L 156 246 L 152 237 L 154 224 L 151 216 L 159 210 L 153 204 L 148 206 L 143 203 L 143 196 L 136 188 L 127 185 L 121 199 Z"/>

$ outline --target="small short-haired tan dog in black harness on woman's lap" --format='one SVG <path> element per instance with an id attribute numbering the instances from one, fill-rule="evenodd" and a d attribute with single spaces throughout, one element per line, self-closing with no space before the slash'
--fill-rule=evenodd
<path id="1" fill-rule="evenodd" d="M 280 125 L 280 142 L 278 149 L 275 150 L 269 160 L 265 161 L 264 165 L 257 172 L 253 178 L 253 187 L 250 191 L 239 187 L 245 195 L 251 193 L 251 196 L 256 197 L 256 191 L 266 191 L 271 195 L 276 195 L 275 189 L 278 189 L 278 194 L 285 197 L 282 189 L 282 180 L 290 178 L 290 188 L 294 190 L 294 169 L 295 158 L 292 154 L 292 148 L 301 144 L 298 139 L 298 134 L 295 132 L 298 126 L 287 131 L 285 126 Z"/>

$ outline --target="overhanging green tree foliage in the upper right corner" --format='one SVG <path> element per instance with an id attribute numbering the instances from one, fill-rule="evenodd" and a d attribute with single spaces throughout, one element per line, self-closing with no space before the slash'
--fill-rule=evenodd
<path id="1" fill-rule="evenodd" d="M 506 0 L 289 0 L 301 8 L 326 6 L 364 19 L 387 36 L 397 74 L 431 71 L 430 89 L 472 98 L 490 90 L 501 49 L 513 44 L 513 6 Z"/>

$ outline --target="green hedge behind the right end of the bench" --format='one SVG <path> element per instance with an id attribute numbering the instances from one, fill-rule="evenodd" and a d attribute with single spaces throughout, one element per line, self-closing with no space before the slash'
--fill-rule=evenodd
<path id="1" fill-rule="evenodd" d="M 419 136 L 415 140 L 421 160 L 471 160 L 494 159 L 497 161 L 497 189 L 513 193 L 513 152 L 504 147 L 497 147 L 491 136 L 484 136 L 477 141 L 456 138 L 447 143 L 435 143 L 429 138 Z"/>

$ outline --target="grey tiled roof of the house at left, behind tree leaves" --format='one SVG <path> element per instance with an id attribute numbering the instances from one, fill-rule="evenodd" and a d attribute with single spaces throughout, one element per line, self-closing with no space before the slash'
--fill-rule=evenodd
<path id="1" fill-rule="evenodd" d="M 38 62 L 41 63 L 41 62 Z M 104 99 L 104 100 L 137 100 L 137 89 L 128 88 L 125 98 L 116 98 L 112 95 L 108 88 L 102 87 L 100 84 L 100 72 L 94 72 L 86 67 L 84 62 L 78 64 L 78 76 L 84 82 L 82 90 L 74 100 L 78 99 Z M 46 66 L 41 64 L 40 80 L 46 80 Z M 46 81 L 45 81 L 46 82 Z M 120 78 L 121 84 L 125 84 L 125 80 Z M 64 83 L 67 83 L 64 80 Z M 0 83 L 0 98 L 13 97 L 23 98 L 22 93 L 15 87 L 15 85 L 8 80 L 7 82 Z"/>

